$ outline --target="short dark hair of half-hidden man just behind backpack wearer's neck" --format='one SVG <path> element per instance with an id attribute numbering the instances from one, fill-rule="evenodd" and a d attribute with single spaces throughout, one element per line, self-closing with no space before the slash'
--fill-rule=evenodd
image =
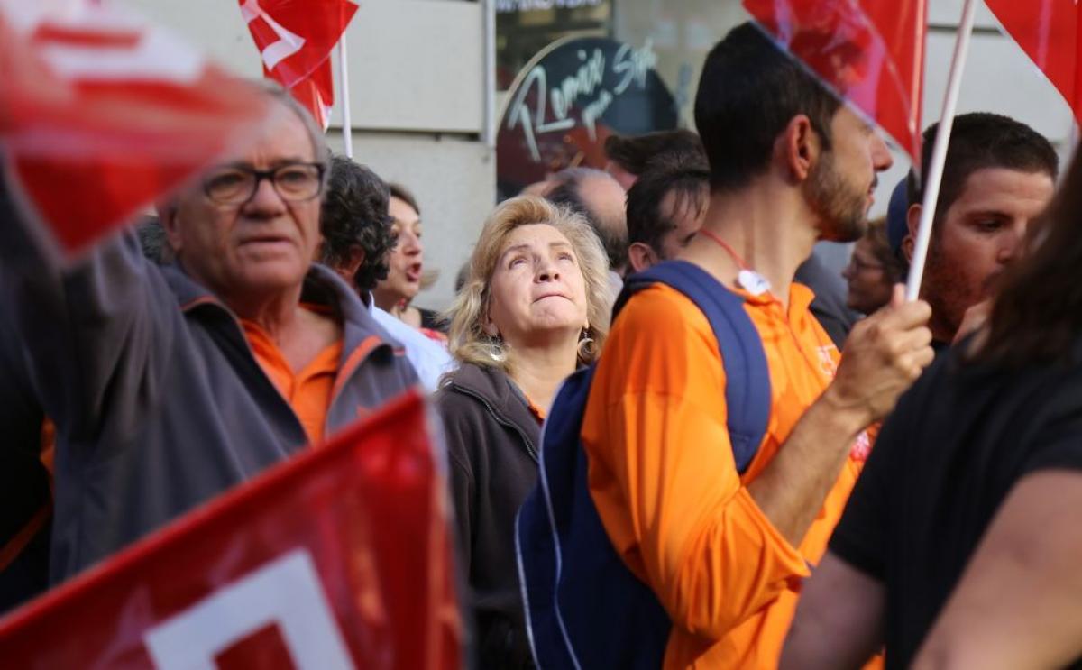
<path id="1" fill-rule="evenodd" d="M 628 191 L 628 244 L 642 242 L 661 251 L 661 238 L 676 227 L 662 203 L 675 194 L 674 211 L 702 209 L 709 199 L 710 166 L 702 152 L 659 156 Z"/>

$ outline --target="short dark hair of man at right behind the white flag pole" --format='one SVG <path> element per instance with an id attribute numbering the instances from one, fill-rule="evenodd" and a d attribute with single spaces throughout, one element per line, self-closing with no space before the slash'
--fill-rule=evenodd
<path id="1" fill-rule="evenodd" d="M 924 131 L 922 175 L 927 174 L 932 166 L 932 147 L 938 130 L 939 123 L 936 122 Z M 1055 181 L 1059 174 L 1059 157 L 1044 135 L 1010 117 L 988 111 L 955 116 L 933 221 L 938 222 L 962 195 L 969 175 L 985 168 L 1044 172 Z M 924 199 L 923 179 L 918 179 L 912 170 L 907 189 L 910 205 Z M 938 226 L 932 228 L 933 233 L 937 229 Z"/>

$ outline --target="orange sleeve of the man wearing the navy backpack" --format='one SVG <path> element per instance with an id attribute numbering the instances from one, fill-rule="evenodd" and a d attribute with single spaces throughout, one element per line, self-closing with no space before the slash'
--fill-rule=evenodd
<path id="1" fill-rule="evenodd" d="M 808 575 L 741 485 L 705 317 L 668 287 L 624 308 L 583 423 L 609 538 L 678 626 L 720 639 Z"/>

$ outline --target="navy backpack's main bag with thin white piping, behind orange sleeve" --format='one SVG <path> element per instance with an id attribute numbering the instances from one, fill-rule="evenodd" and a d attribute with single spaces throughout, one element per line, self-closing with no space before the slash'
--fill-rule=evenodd
<path id="1" fill-rule="evenodd" d="M 515 520 L 530 647 L 543 670 L 657 670 L 672 622 L 605 531 L 579 441 L 594 367 L 572 375 L 541 434 L 538 484 Z"/>

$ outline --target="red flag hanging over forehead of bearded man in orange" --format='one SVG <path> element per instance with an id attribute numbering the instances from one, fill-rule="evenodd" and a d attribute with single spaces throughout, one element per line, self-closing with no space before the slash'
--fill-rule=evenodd
<path id="1" fill-rule="evenodd" d="M 920 165 L 927 0 L 743 0 L 827 86 Z"/>

